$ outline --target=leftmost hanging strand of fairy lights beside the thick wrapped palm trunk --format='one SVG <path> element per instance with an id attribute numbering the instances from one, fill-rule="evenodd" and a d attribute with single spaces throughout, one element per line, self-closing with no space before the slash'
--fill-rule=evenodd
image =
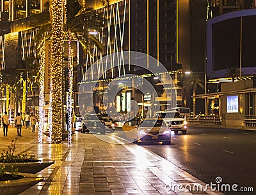
<path id="1" fill-rule="evenodd" d="M 40 76 L 39 76 L 39 122 L 38 122 L 38 142 L 43 143 L 44 131 L 44 71 L 45 71 L 45 42 L 41 49 Z"/>

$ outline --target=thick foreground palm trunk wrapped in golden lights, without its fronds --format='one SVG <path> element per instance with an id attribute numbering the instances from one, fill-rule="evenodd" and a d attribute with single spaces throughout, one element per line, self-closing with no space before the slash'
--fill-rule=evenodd
<path id="1" fill-rule="evenodd" d="M 51 120 L 52 143 L 61 143 L 63 130 L 63 8 L 65 1 L 51 0 Z"/>

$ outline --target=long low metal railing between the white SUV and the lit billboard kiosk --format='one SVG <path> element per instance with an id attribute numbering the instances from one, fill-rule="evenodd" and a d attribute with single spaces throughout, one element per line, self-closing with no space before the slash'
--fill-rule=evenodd
<path id="1" fill-rule="evenodd" d="M 187 119 L 188 124 L 190 125 L 214 125 L 214 126 L 221 126 L 221 119 L 220 117 L 216 116 L 207 116 L 207 117 L 189 117 Z"/>

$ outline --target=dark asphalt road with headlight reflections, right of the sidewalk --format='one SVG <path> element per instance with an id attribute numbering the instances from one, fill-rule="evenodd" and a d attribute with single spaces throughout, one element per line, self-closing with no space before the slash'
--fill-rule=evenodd
<path id="1" fill-rule="evenodd" d="M 189 127 L 186 135 L 173 134 L 172 145 L 143 147 L 205 184 L 216 184 L 216 177 L 221 177 L 220 184 L 253 187 L 256 194 L 256 131 Z"/>

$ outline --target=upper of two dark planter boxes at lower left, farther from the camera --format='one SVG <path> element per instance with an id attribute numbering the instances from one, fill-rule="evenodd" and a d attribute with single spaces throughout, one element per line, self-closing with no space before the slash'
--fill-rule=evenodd
<path id="1" fill-rule="evenodd" d="M 38 171 L 44 170 L 47 166 L 55 163 L 54 161 L 38 161 L 31 163 L 0 163 L 1 166 L 5 166 L 6 171 L 9 171 L 10 168 L 18 168 L 20 173 L 37 173 Z"/>

